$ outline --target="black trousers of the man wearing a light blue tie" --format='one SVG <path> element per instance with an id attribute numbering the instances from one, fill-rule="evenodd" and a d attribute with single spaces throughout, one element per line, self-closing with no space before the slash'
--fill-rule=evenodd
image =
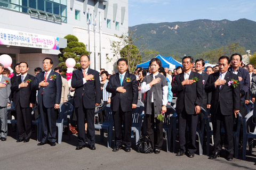
<path id="1" fill-rule="evenodd" d="M 132 134 L 132 111 L 123 112 L 121 105 L 116 112 L 113 112 L 114 125 L 115 125 L 115 140 L 116 146 L 131 148 L 131 134 Z M 124 134 L 122 133 L 122 124 L 124 127 Z"/>

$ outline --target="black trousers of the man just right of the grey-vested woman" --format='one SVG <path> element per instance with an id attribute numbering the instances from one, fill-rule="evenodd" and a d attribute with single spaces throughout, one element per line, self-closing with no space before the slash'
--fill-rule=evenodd
<path id="1" fill-rule="evenodd" d="M 196 128 L 199 114 L 187 114 L 185 108 L 179 114 L 179 143 L 180 150 L 188 150 L 191 154 L 195 153 L 196 148 Z M 186 139 L 187 125 L 189 128 L 188 138 Z M 187 148 L 187 149 L 186 149 Z"/>

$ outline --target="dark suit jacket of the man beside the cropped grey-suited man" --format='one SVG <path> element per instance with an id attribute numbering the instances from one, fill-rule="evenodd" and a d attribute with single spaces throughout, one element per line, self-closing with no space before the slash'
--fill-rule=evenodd
<path id="1" fill-rule="evenodd" d="M 24 81 L 28 79 L 31 80 L 31 82 L 28 83 L 28 86 L 19 88 L 19 84 L 21 83 L 21 75 L 13 77 L 11 90 L 15 107 L 17 107 L 19 103 L 23 108 L 29 107 L 30 103 L 36 103 L 36 90 L 33 90 L 35 77 L 27 74 Z"/>

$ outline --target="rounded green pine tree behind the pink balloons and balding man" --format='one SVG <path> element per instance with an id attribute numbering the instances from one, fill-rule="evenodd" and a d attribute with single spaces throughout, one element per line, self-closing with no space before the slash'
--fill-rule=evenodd
<path id="1" fill-rule="evenodd" d="M 78 38 L 73 35 L 67 35 L 64 37 L 67 39 L 67 47 L 60 48 L 59 57 L 59 66 L 63 69 L 67 69 L 65 64 L 67 58 L 74 58 L 76 61 L 75 69 L 80 67 L 79 59 L 81 55 L 89 55 L 89 52 L 86 51 L 84 43 L 78 42 Z"/>

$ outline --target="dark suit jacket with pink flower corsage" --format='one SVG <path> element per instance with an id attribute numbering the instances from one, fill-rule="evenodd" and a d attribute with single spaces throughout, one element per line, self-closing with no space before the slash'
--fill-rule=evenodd
<path id="1" fill-rule="evenodd" d="M 218 104 L 220 103 L 221 113 L 223 115 L 234 114 L 234 109 L 240 108 L 240 84 L 236 88 L 228 86 L 231 79 L 238 81 L 238 76 L 227 71 L 224 85 L 215 88 L 214 82 L 220 77 L 220 72 L 210 74 L 205 85 L 206 92 L 212 92 L 211 114 L 217 114 Z"/>

